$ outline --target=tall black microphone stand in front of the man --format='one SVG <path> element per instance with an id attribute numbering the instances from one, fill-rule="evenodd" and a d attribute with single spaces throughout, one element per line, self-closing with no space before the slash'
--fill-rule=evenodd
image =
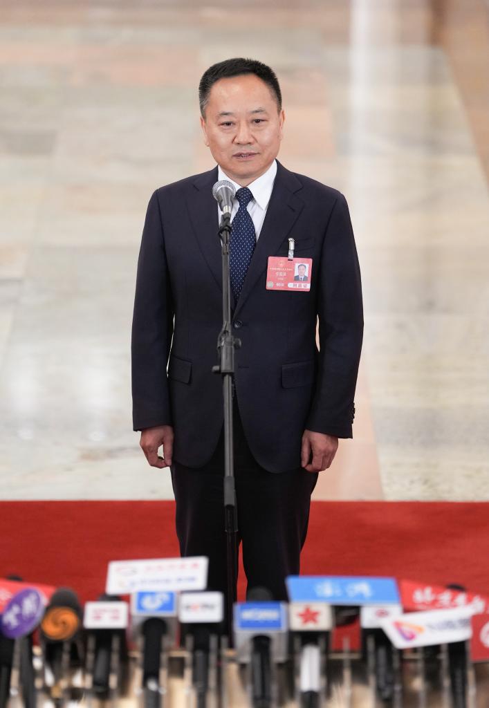
<path id="1" fill-rule="evenodd" d="M 234 450 L 232 440 L 232 393 L 235 375 L 235 350 L 241 341 L 232 335 L 229 244 L 231 235 L 231 213 L 224 212 L 219 227 L 219 238 L 223 249 L 223 329 L 218 336 L 217 366 L 213 372 L 223 377 L 224 397 L 224 513 L 227 559 L 226 617 L 228 646 L 232 647 L 232 607 L 236 602 L 237 583 L 237 506 L 234 471 Z"/>

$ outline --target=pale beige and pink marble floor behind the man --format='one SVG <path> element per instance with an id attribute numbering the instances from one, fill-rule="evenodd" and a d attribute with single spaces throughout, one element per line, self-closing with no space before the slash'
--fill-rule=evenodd
<path id="1" fill-rule="evenodd" d="M 354 439 L 316 498 L 489 498 L 488 19 L 483 0 L 4 0 L 2 498 L 172 497 L 130 420 L 137 251 L 152 191 L 212 166 L 196 86 L 237 55 L 276 69 L 281 161 L 342 190 L 359 251 Z"/>

